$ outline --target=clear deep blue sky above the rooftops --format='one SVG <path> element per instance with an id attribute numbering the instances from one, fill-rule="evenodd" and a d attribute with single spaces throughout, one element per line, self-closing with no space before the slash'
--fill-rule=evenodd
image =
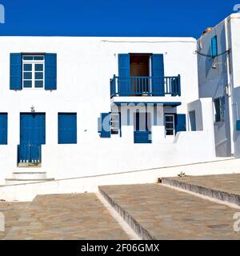
<path id="1" fill-rule="evenodd" d="M 233 12 L 238 1 L 0 0 L 1 35 L 191 36 Z"/>

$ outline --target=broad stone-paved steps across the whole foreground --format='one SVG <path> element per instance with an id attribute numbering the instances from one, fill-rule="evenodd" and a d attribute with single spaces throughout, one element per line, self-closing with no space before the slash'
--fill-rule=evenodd
<path id="1" fill-rule="evenodd" d="M 21 175 L 27 179 L 29 174 Z M 14 178 L 19 178 L 18 173 Z M 240 232 L 234 230 L 234 214 L 240 211 L 240 174 L 159 181 L 99 186 L 97 194 L 46 194 L 33 202 L 0 202 L 6 218 L 6 232 L 0 233 L 0 239 L 130 239 L 110 213 L 114 211 L 136 237 L 146 240 L 240 240 Z M 223 194 L 236 200 L 228 201 Z"/>

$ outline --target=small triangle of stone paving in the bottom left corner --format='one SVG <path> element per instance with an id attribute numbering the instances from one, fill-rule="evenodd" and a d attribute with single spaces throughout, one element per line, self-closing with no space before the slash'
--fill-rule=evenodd
<path id="1" fill-rule="evenodd" d="M 5 238 L 7 232 L 18 222 L 23 210 L 30 205 L 30 202 L 0 202 L 0 213 L 5 217 L 5 232 L 0 232 L 0 240 Z"/>

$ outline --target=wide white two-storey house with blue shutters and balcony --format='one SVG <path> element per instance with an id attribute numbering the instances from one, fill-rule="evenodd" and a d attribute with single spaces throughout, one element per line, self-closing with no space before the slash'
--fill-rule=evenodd
<path id="1" fill-rule="evenodd" d="M 213 160 L 212 101 L 198 99 L 196 45 L 1 37 L 0 183 Z"/>

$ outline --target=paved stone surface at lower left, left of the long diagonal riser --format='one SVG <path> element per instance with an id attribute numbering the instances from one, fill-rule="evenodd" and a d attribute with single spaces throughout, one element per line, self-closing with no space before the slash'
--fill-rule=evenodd
<path id="1" fill-rule="evenodd" d="M 95 194 L 56 194 L 35 198 L 6 233 L 8 239 L 129 238 Z"/>

